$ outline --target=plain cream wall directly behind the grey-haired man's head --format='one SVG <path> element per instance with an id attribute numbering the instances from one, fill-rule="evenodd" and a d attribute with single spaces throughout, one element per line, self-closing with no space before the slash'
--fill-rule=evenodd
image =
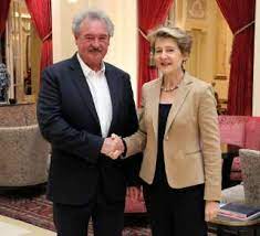
<path id="1" fill-rule="evenodd" d="M 85 8 L 98 8 L 106 11 L 115 24 L 115 34 L 111 39 L 110 51 L 105 57 L 131 74 L 135 100 L 137 97 L 137 31 L 135 0 L 52 0 L 53 61 L 71 57 L 76 51 L 71 32 L 73 15 Z"/>

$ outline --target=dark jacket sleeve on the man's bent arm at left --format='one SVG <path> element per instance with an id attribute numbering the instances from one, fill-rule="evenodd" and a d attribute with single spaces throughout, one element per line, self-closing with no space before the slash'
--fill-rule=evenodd
<path id="1" fill-rule="evenodd" d="M 59 79 L 53 69 L 48 68 L 42 73 L 41 83 L 37 115 L 42 136 L 52 148 L 96 162 L 103 138 L 76 130 L 64 119 Z"/>

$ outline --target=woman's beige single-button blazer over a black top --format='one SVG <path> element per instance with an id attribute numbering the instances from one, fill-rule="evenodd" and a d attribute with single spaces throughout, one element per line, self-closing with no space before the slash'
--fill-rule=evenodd
<path id="1" fill-rule="evenodd" d="M 139 130 L 125 138 L 126 157 L 144 151 L 139 175 L 147 183 L 153 182 L 156 168 L 162 82 L 143 86 Z M 220 200 L 221 151 L 214 90 L 187 72 L 175 92 L 163 142 L 168 184 L 181 189 L 205 183 L 205 200 Z"/>

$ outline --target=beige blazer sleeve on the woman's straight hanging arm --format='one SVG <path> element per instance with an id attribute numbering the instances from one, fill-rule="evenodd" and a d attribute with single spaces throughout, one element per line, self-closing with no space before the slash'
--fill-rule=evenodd
<path id="1" fill-rule="evenodd" d="M 205 170 L 205 200 L 221 197 L 221 150 L 214 92 L 208 86 L 199 100 L 199 130 Z"/>

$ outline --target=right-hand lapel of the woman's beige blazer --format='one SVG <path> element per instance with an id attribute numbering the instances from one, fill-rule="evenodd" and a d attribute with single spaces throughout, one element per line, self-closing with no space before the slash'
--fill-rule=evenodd
<path id="1" fill-rule="evenodd" d="M 178 114 L 180 107 L 183 106 L 185 98 L 187 97 L 191 86 L 191 79 L 187 73 L 185 73 L 185 77 L 183 83 L 179 85 L 179 88 L 176 90 L 176 96 L 174 97 L 173 106 L 170 108 L 167 122 L 166 122 L 166 128 L 165 128 L 165 133 L 168 132 L 170 125 L 174 122 L 176 115 Z"/>

